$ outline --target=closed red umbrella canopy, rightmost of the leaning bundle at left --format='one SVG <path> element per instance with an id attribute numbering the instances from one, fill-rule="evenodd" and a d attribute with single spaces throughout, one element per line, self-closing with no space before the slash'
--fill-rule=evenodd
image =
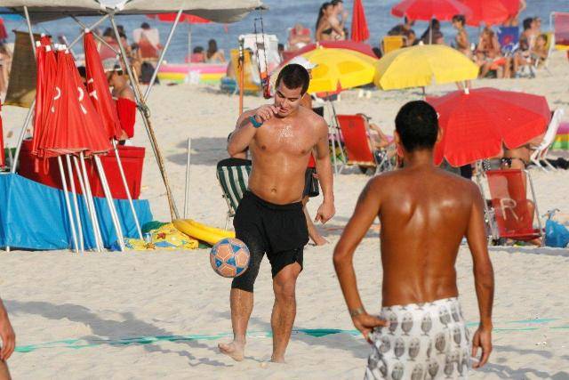
<path id="1" fill-rule="evenodd" d="M 100 61 L 97 44 L 91 32 L 85 33 L 84 52 L 89 97 L 105 126 L 108 139 L 119 140 L 121 137 L 121 123 L 116 112 L 115 101 L 113 101 L 108 89 L 108 81 Z"/>

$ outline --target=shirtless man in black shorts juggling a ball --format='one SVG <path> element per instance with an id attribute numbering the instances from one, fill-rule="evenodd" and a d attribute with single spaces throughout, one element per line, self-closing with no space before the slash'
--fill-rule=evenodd
<path id="1" fill-rule="evenodd" d="M 295 64 L 285 66 L 276 79 L 274 104 L 244 112 L 228 142 L 230 156 L 247 147 L 252 155 L 249 191 L 244 194 L 233 222 L 236 238 L 249 247 L 251 262 L 247 271 L 231 284 L 233 342 L 219 344 L 220 352 L 234 360 L 244 359 L 253 284 L 267 253 L 275 292 L 271 360 L 284 362 L 296 315 L 296 279 L 302 270 L 302 251 L 309 241 L 301 199 L 313 150 L 324 193 L 316 220 L 324 223 L 334 214 L 328 126 L 322 117 L 301 107 L 301 98 L 308 88 L 306 69 Z"/>

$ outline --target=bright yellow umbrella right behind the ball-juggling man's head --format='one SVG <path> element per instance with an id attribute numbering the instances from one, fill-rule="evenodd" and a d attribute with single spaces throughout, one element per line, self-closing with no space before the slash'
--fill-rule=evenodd
<path id="1" fill-rule="evenodd" d="M 317 65 L 312 69 L 309 93 L 333 93 L 368 85 L 373 82 L 374 64 L 378 61 L 363 53 L 325 47 L 302 56 Z"/>

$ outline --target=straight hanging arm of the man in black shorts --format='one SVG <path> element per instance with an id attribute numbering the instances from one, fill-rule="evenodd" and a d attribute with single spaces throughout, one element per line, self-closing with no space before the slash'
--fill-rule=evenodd
<path id="1" fill-rule="evenodd" d="M 316 163 L 317 174 L 320 187 L 324 196 L 322 205 L 318 207 L 316 222 L 328 222 L 336 213 L 334 208 L 334 191 L 333 191 L 333 174 L 332 165 L 330 163 L 330 150 L 328 149 L 328 125 L 321 118 L 320 124 L 317 126 L 320 138 L 316 147 Z"/>

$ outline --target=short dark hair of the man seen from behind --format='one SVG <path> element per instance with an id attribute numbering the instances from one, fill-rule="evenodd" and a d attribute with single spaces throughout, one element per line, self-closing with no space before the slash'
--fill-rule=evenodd
<path id="1" fill-rule="evenodd" d="M 426 101 L 409 101 L 399 109 L 395 129 L 408 152 L 432 150 L 437 142 L 437 111 Z"/>

